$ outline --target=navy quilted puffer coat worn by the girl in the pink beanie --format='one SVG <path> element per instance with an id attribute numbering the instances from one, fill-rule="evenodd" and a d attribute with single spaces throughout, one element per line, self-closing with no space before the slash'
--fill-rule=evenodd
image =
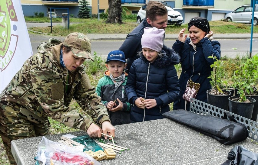
<path id="1" fill-rule="evenodd" d="M 163 46 L 162 57 L 150 63 L 143 54 L 131 66 L 125 90 L 129 102 L 134 104 L 139 97 L 155 99 L 157 106 L 147 109 L 134 105 L 131 109 L 131 121 L 140 122 L 164 118 L 163 113 L 170 111 L 169 103 L 179 99 L 180 87 L 177 71 L 179 63 L 177 53 Z"/>

